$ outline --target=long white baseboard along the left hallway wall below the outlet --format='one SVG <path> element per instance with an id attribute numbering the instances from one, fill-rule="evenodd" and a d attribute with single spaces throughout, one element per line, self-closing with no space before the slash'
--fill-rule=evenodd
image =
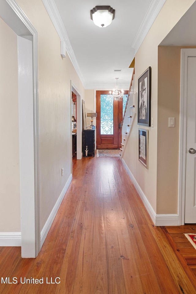
<path id="1" fill-rule="evenodd" d="M 71 180 L 72 180 L 72 174 L 70 175 L 69 179 L 67 180 L 67 183 L 66 183 L 65 187 L 63 188 L 60 196 L 58 197 L 58 200 L 57 200 L 55 206 L 53 207 L 53 209 L 51 211 L 51 214 L 49 215 L 49 217 L 48 217 L 48 219 L 47 219 L 47 221 L 46 221 L 46 223 L 45 223 L 45 225 L 44 225 L 44 227 L 43 227 L 43 229 L 41 231 L 41 247 L 42 247 L 43 242 L 45 241 L 46 236 L 47 236 L 47 234 L 48 234 L 48 232 L 49 232 L 49 230 L 51 228 L 53 220 L 55 219 L 55 216 L 56 216 L 56 214 L 58 212 L 58 209 L 59 209 L 59 207 L 61 205 L 61 202 L 62 202 L 62 200 L 63 200 L 63 198 L 65 196 L 65 193 L 66 193 L 66 191 L 67 191 L 67 189 L 68 189 L 68 187 L 69 187 L 69 185 L 71 183 Z"/>

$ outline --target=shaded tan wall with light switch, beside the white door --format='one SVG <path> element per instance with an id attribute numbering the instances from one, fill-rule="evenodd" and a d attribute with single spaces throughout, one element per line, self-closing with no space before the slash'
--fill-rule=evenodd
<path id="1" fill-rule="evenodd" d="M 158 47 L 157 213 L 178 213 L 180 58 L 185 46 Z M 175 117 L 175 127 L 168 118 Z M 168 205 L 170 203 L 170 205 Z"/>

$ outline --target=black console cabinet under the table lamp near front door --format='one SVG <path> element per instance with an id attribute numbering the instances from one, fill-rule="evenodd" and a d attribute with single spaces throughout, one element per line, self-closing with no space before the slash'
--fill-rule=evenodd
<path id="1" fill-rule="evenodd" d="M 85 150 L 88 146 L 88 155 L 93 154 L 95 156 L 95 130 L 83 130 L 82 131 L 82 153 L 86 156 Z"/>

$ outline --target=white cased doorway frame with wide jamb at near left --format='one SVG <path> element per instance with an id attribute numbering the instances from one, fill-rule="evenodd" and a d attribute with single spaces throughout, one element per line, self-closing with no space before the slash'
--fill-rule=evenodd
<path id="1" fill-rule="evenodd" d="M 0 2 L 0 17 L 18 39 L 21 255 L 33 258 L 40 251 L 37 32 L 13 0 Z"/>

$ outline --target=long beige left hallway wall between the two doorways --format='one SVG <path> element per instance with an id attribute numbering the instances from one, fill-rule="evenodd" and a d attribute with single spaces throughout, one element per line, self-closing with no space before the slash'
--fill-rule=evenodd
<path id="1" fill-rule="evenodd" d="M 84 99 L 85 90 L 68 55 L 64 59 L 60 55 L 60 39 L 42 1 L 17 0 L 16 2 L 38 33 L 40 229 L 42 230 L 71 174 L 70 80 L 80 92 L 81 99 Z M 10 46 L 9 42 L 7 50 L 10 47 L 13 46 Z M 16 63 L 17 55 L 13 56 L 13 59 Z M 11 64 L 10 71 L 13 69 L 14 66 Z M 14 70 L 17 71 L 17 67 Z M 17 93 L 17 85 L 15 87 L 13 92 Z M 9 94 L 9 96 L 13 95 Z M 15 151 L 12 150 L 12 152 Z M 61 176 L 62 167 L 64 168 L 63 176 Z M 4 207 L 1 205 L 1 208 L 6 211 L 5 214 L 9 213 L 7 206 L 12 202 L 13 196 L 11 195 Z M 19 209 L 17 218 L 20 220 Z M 15 228 L 17 224 L 15 219 L 9 218 L 9 220 L 6 231 L 20 231 L 20 223 Z"/>

